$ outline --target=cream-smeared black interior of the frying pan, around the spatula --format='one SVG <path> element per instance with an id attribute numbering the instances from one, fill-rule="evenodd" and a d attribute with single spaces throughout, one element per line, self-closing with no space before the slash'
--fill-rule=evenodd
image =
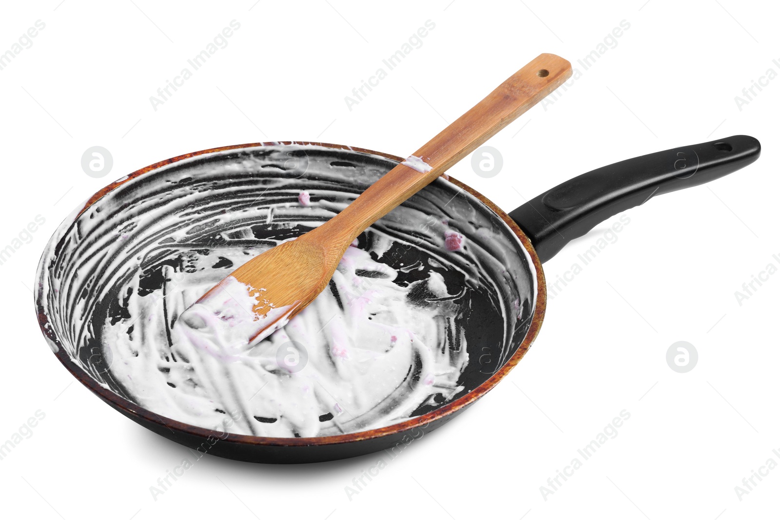
<path id="1" fill-rule="evenodd" d="M 275 333 L 270 343 L 222 352 L 214 370 L 170 345 L 176 317 L 197 299 L 199 287 L 327 221 L 396 164 L 353 150 L 279 144 L 197 155 L 124 182 L 66 219 L 44 250 L 37 303 L 49 344 L 118 398 L 211 430 L 328 436 L 438 409 L 484 383 L 512 356 L 530 327 L 536 298 L 533 264 L 509 226 L 441 178 L 359 237 L 352 251 L 359 261 L 337 271 L 349 291 L 332 282 L 331 294 L 321 296 L 329 306 L 317 310 L 317 324 L 324 325 L 316 331 L 309 324 L 314 328 L 306 341 Z M 347 300 L 362 309 L 361 299 L 370 301 L 383 284 L 399 292 L 403 316 L 416 322 L 412 328 L 427 331 L 434 360 L 428 368 L 410 350 L 410 368 L 396 377 L 394 389 L 363 386 L 364 395 L 348 400 L 351 410 L 327 378 L 315 377 L 314 398 L 292 404 L 275 398 L 307 368 L 349 358 L 334 346 L 327 314 Z M 366 359 L 406 341 L 392 332 L 388 338 L 386 347 L 356 347 Z M 417 392 L 416 400 L 399 393 L 401 387 Z M 291 407 L 312 402 L 322 407 L 314 423 L 290 419 Z"/>

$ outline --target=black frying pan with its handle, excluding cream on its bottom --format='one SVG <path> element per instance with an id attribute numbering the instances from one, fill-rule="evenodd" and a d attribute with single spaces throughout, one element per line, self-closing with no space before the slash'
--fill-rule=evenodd
<path id="1" fill-rule="evenodd" d="M 755 138 L 731 136 L 634 157 L 563 182 L 509 214 L 462 182 L 440 178 L 399 207 L 406 209 L 393 210 L 378 221 L 374 227 L 388 235 L 415 237 L 410 242 L 415 246 L 387 256 L 391 264 L 404 260 L 409 265 L 435 253 L 419 230 L 404 232 L 402 219 L 394 220 L 393 215 L 407 210 L 418 218 L 451 219 L 450 225 L 460 226 L 470 248 L 492 259 L 475 274 L 484 285 L 470 295 L 470 314 L 462 322 L 470 359 L 458 381 L 463 390 L 449 401 L 434 399 L 421 405 L 410 419 L 392 426 L 328 437 L 254 437 L 161 417 L 112 377 L 112 360 L 101 348 L 99 330 L 117 312 L 115 302 L 121 301 L 116 281 L 133 269 L 157 272 L 173 246 L 154 223 L 140 219 L 150 208 L 169 211 L 176 222 L 191 225 L 191 243 L 176 246 L 203 249 L 225 235 L 213 225 L 219 219 L 229 230 L 234 221 L 246 219 L 247 208 L 295 206 L 291 193 L 297 192 L 285 189 L 289 186 L 303 182 L 313 197 L 320 193 L 317 190 L 325 190 L 322 193 L 330 193 L 332 199 L 348 202 L 402 157 L 324 143 L 252 143 L 202 150 L 133 172 L 95 193 L 48 242 L 37 270 L 38 321 L 57 358 L 84 386 L 129 419 L 187 447 L 270 463 L 399 451 L 459 415 L 519 362 L 544 317 L 547 293 L 541 264 L 567 242 L 653 196 L 735 172 L 760 153 Z M 282 226 L 281 231 L 264 227 L 261 221 L 251 224 L 257 240 L 306 231 L 293 225 Z M 360 241 L 361 248 L 370 248 L 371 232 Z M 168 249 L 160 249 L 160 244 Z M 453 263 L 463 260 L 452 258 Z"/>

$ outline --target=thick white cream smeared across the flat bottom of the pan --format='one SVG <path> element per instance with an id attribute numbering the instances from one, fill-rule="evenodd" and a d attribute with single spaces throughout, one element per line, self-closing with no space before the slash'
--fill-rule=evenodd
<path id="1" fill-rule="evenodd" d="M 441 275 L 399 287 L 396 271 L 350 247 L 331 287 L 268 338 L 249 341 L 271 313 L 258 320 L 257 293 L 247 297 L 232 277 L 168 327 L 166 314 L 176 316 L 224 275 L 209 269 L 218 257 L 248 260 L 229 249 L 199 256 L 197 275 L 171 284 L 165 300 L 138 296 L 137 274 L 127 310 L 144 319 L 129 334 L 132 318 L 104 324 L 112 374 L 162 416 L 219 429 L 229 412 L 241 417 L 232 433 L 314 437 L 385 426 L 434 394 L 462 390 L 469 356 Z M 410 299 L 422 290 L 439 300 Z"/>

